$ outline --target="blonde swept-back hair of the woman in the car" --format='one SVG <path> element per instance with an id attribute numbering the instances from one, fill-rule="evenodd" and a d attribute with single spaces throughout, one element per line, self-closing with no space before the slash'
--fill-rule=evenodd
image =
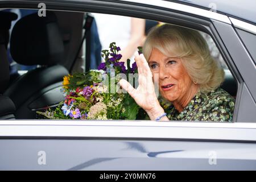
<path id="1" fill-rule="evenodd" d="M 210 55 L 203 36 L 196 30 L 164 24 L 153 28 L 143 46 L 143 54 L 149 59 L 156 48 L 166 56 L 170 52 L 182 60 L 191 80 L 200 85 L 201 92 L 217 89 L 224 81 L 224 70 Z"/>

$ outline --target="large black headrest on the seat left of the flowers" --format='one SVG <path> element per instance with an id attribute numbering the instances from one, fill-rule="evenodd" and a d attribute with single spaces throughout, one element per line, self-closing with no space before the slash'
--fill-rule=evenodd
<path id="1" fill-rule="evenodd" d="M 46 17 L 39 17 L 35 13 L 16 22 L 10 51 L 13 59 L 24 65 L 53 65 L 63 60 L 63 39 L 56 15 L 48 11 Z"/>

